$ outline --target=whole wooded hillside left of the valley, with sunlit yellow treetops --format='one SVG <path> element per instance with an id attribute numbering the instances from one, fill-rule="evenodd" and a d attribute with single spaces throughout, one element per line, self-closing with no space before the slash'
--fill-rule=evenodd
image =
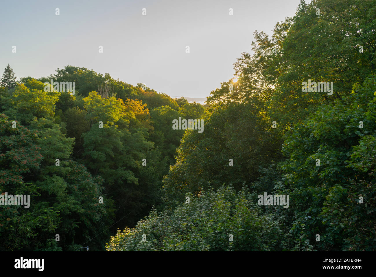
<path id="1" fill-rule="evenodd" d="M 4 78 L 12 69 L 5 71 Z M 108 74 L 56 71 L 0 89 L 0 192 L 32 199 L 27 209 L 1 206 L 2 250 L 75 250 L 85 242 L 103 250 L 115 227 L 134 226 L 162 205 L 162 178 L 184 133 L 170 122 L 204 113 Z M 75 82 L 75 91 L 45 89 L 50 80 Z"/>

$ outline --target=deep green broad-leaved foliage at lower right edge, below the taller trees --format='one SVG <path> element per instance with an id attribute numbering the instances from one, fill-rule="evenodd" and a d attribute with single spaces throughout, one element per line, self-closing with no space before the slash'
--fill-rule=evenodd
<path id="1" fill-rule="evenodd" d="M 282 147 L 288 159 L 281 168 L 296 218 L 290 232 L 299 233 L 304 224 L 311 242 L 320 234 L 322 242 L 315 243 L 320 250 L 374 249 L 370 242 L 376 239 L 371 223 L 376 191 L 370 187 L 373 178 L 365 174 L 373 167 L 374 156 L 364 154 L 374 144 L 371 133 L 376 130 L 373 80 L 371 76 L 362 86 L 354 85 L 349 96 L 321 105 L 291 129 Z M 364 121 L 364 128 L 359 128 L 359 121 Z M 366 203 L 359 204 L 359 196 Z M 357 243 L 356 230 L 364 234 Z"/>

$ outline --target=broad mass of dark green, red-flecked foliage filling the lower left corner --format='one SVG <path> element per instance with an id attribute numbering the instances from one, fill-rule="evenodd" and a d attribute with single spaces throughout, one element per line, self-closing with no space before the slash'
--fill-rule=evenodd
<path id="1" fill-rule="evenodd" d="M 99 195 L 105 195 L 103 181 L 68 159 L 73 140 L 45 119 L 32 124 L 40 132 L 17 121 L 16 128 L 12 125 L 1 114 L 0 193 L 29 194 L 30 207 L 0 206 L 0 233 L 6 238 L 1 249 L 66 249 L 74 240 L 84 242 L 105 229 L 112 217 L 111 201 L 99 205 Z M 55 166 L 53 153 L 62 159 L 59 166 Z M 60 241 L 51 245 L 55 234 Z M 105 237 L 102 234 L 100 239 Z"/>

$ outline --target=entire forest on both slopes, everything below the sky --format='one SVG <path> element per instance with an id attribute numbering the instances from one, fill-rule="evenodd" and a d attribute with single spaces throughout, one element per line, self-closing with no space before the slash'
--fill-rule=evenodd
<path id="1" fill-rule="evenodd" d="M 0 251 L 376 250 L 375 15 L 301 1 L 205 105 L 0 65 Z"/>

